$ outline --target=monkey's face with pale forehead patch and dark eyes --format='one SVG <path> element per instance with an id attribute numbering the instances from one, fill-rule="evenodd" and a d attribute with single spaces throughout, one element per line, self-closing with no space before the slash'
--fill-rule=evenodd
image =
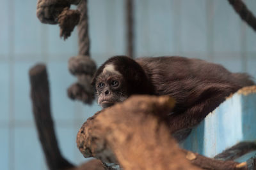
<path id="1" fill-rule="evenodd" d="M 95 89 L 97 90 L 98 104 L 107 108 L 115 103 L 127 99 L 125 81 L 113 65 L 107 65 L 96 78 Z"/>

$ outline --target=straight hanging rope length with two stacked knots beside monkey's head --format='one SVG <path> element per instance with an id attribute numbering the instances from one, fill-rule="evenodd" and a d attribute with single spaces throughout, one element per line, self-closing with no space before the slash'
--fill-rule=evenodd
<path id="1" fill-rule="evenodd" d="M 97 67 L 95 62 L 90 59 L 87 0 L 81 0 L 77 9 L 81 13 L 80 22 L 77 27 L 79 55 L 68 60 L 68 69 L 70 73 L 77 76 L 78 81 L 68 88 L 68 96 L 71 99 L 78 99 L 84 103 L 92 104 L 95 95 L 91 81 Z"/>

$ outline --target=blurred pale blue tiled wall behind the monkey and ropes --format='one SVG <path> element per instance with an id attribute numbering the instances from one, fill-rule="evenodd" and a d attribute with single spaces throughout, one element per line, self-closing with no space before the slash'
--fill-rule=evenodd
<path id="1" fill-rule="evenodd" d="M 244 1 L 256 14 L 256 1 Z M 73 8 L 76 8 L 73 6 Z M 88 0 L 91 57 L 100 66 L 126 53 L 124 0 Z M 61 152 L 84 162 L 76 134 L 100 110 L 67 97 L 76 81 L 67 62 L 78 53 L 77 31 L 66 41 L 58 25 L 41 24 L 36 0 L 1 0 L 0 169 L 47 169 L 33 121 L 28 71 L 47 64 L 52 117 Z M 223 0 L 134 0 L 134 56 L 180 55 L 256 76 L 256 32 Z"/>

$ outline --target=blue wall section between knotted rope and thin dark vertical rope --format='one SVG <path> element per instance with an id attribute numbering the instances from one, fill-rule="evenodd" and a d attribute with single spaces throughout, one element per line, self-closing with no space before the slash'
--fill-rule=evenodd
<path id="1" fill-rule="evenodd" d="M 91 55 L 97 61 L 125 53 L 124 1 L 88 1 Z"/>

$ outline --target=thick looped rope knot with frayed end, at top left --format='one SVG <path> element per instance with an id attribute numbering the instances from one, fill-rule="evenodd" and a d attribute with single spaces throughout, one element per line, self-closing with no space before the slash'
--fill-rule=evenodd
<path id="1" fill-rule="evenodd" d="M 71 4 L 81 0 L 38 0 L 36 16 L 44 24 L 59 24 L 60 36 L 67 39 L 79 23 L 78 10 L 70 10 Z"/>

